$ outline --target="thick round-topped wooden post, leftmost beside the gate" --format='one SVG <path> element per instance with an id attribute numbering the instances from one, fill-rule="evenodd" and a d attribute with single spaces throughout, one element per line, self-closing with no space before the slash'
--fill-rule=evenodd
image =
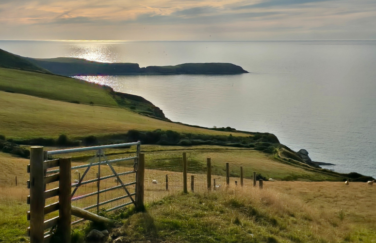
<path id="1" fill-rule="evenodd" d="M 42 243 L 44 236 L 43 147 L 30 147 L 30 243 Z"/>

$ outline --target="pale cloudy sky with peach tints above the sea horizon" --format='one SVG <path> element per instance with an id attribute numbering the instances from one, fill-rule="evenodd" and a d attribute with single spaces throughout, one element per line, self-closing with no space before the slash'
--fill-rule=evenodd
<path id="1" fill-rule="evenodd" d="M 0 0 L 0 39 L 375 40 L 375 0 Z"/>

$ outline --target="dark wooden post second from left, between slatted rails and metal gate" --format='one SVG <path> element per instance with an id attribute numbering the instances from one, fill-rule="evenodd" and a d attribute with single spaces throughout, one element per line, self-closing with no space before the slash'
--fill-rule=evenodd
<path id="1" fill-rule="evenodd" d="M 70 243 L 71 208 L 71 158 L 59 158 L 59 224 L 57 232 L 62 242 Z"/>

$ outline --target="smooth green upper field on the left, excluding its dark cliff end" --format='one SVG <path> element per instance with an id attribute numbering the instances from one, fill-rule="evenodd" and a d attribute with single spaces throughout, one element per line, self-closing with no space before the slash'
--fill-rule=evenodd
<path id="1" fill-rule="evenodd" d="M 0 90 L 52 100 L 117 106 L 105 88 L 78 79 L 1 68 L 0 79 Z"/>

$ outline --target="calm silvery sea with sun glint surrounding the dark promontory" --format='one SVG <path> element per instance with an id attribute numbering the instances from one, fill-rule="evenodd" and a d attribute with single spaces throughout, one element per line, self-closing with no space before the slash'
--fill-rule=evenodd
<path id="1" fill-rule="evenodd" d="M 172 121 L 274 133 L 342 173 L 376 176 L 376 41 L 0 41 L 23 56 L 81 57 L 141 67 L 229 62 L 241 75 L 82 79 L 145 97 Z"/>

